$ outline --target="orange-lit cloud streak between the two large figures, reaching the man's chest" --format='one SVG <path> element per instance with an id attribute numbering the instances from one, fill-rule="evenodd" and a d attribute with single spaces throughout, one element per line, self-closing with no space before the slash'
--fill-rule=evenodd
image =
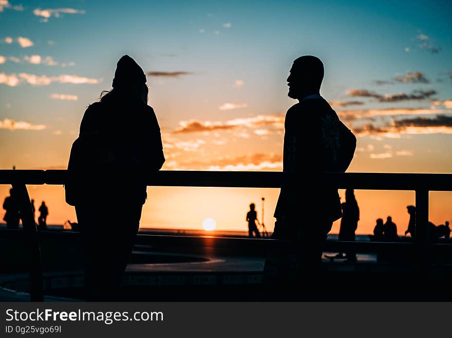
<path id="1" fill-rule="evenodd" d="M 180 121 L 179 127 L 173 133 L 202 133 L 222 130 L 231 130 L 237 127 L 246 128 L 270 128 L 270 130 L 284 129 L 283 115 L 256 115 L 252 117 L 243 117 L 228 120 L 225 122 L 211 122 L 211 121 Z"/>

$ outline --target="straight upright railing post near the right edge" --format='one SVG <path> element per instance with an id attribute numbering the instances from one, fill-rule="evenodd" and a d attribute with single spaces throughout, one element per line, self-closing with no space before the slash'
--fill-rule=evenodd
<path id="1" fill-rule="evenodd" d="M 422 270 L 427 267 L 429 257 L 428 236 L 428 190 L 416 189 L 416 253 Z"/>

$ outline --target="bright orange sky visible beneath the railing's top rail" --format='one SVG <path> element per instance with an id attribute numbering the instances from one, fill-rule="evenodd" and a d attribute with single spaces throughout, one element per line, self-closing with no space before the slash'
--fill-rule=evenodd
<path id="1" fill-rule="evenodd" d="M 2 186 L 0 193 L 6 195 L 7 189 L 7 186 Z M 64 203 L 63 187 L 28 186 L 28 190 L 36 201 L 36 209 L 45 198 L 49 207 L 49 224 L 63 224 L 67 219 L 76 219 L 73 207 Z M 340 190 L 340 195 L 344 199 L 345 191 Z M 386 219 L 387 216 L 392 216 L 398 233 L 404 234 L 409 219 L 406 206 L 415 204 L 413 191 L 357 190 L 355 195 L 361 211 L 357 234 L 372 233 L 376 218 Z M 244 231 L 247 230 L 245 215 L 251 202 L 256 204 L 261 220 L 261 197 L 266 198 L 265 223 L 268 230 L 272 230 L 278 189 L 148 187 L 141 227 L 202 229 L 202 221 L 213 218 L 218 230 Z M 430 199 L 430 220 L 437 225 L 450 221 L 452 192 L 431 192 Z M 111 212 L 120 204 L 121 201 L 112 201 Z M 340 221 L 334 223 L 332 233 L 338 233 L 339 225 Z"/>

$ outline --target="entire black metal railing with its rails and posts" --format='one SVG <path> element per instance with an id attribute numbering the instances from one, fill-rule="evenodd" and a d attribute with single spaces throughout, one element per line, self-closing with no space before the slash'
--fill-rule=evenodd
<path id="1" fill-rule="evenodd" d="M 26 185 L 63 185 L 66 170 L 0 170 L 0 184 L 11 184 L 20 199 L 20 213 L 29 248 L 31 300 L 42 301 L 42 267 L 39 237 L 32 214 Z M 293 174 L 283 172 L 218 172 L 218 171 L 159 171 L 149 177 L 148 186 L 178 187 L 246 187 L 280 188 L 290 182 Z M 340 251 L 352 248 L 359 252 L 379 252 L 396 246 L 414 248 L 419 253 L 420 265 L 428 250 L 444 252 L 452 245 L 431 244 L 428 240 L 429 191 L 452 191 L 452 174 L 404 174 L 404 173 L 328 173 L 319 177 L 322 182 L 338 189 L 413 190 L 416 193 L 416 241 L 414 243 L 337 242 L 329 249 Z M 126 178 L 118 177 L 118 181 Z M 283 249 L 285 241 L 270 239 L 203 238 L 189 236 L 138 235 L 137 243 L 168 242 L 177 246 L 196 247 L 254 247 Z"/>

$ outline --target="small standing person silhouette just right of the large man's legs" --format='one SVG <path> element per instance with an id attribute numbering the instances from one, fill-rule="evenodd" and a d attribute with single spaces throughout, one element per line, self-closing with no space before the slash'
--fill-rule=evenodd
<path id="1" fill-rule="evenodd" d="M 340 241 L 354 241 L 355 231 L 360 220 L 360 208 L 356 202 L 353 189 L 345 190 L 345 202 L 342 206 L 341 227 L 338 239 Z M 342 253 L 338 253 L 336 257 L 342 257 Z M 347 252 L 348 261 L 356 261 L 356 254 L 353 251 Z"/>

